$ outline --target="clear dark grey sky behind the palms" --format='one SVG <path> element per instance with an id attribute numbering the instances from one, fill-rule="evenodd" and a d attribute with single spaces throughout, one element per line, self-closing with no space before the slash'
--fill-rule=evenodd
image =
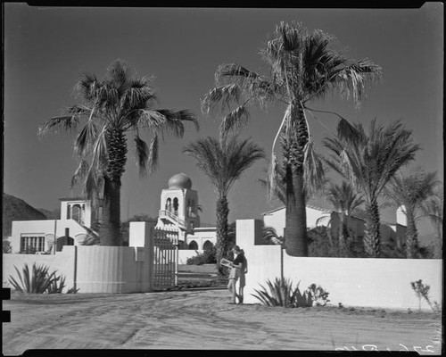
<path id="1" fill-rule="evenodd" d="M 368 88 L 359 109 L 351 101 L 327 95 L 311 108 L 338 112 L 368 126 L 401 120 L 421 145 L 413 168 L 438 171 L 443 180 L 443 8 L 420 9 L 260 9 L 260 8 L 107 8 L 33 7 L 4 4 L 4 193 L 36 208 L 59 208 L 71 194 L 78 165 L 74 136 L 37 137 L 38 126 L 78 103 L 73 87 L 83 72 L 103 78 L 120 58 L 139 76 L 153 76 L 158 108 L 189 109 L 200 121 L 186 126 L 181 139 L 166 137 L 160 165 L 146 179 L 138 177 L 132 147 L 122 178 L 121 216 L 156 217 L 160 195 L 171 176 L 184 172 L 198 191 L 202 221 L 215 222 L 216 194 L 194 159 L 182 154 L 199 137 L 217 136 L 221 117 L 205 117 L 200 98 L 214 86 L 221 63 L 235 62 L 261 73 L 267 67 L 259 50 L 280 21 L 301 21 L 336 37 L 335 48 L 350 58 L 369 58 L 383 68 L 383 79 Z M 285 108 L 252 108 L 241 137 L 252 137 L 269 156 Z M 321 141 L 335 132 L 337 119 L 319 114 L 310 135 L 319 154 Z M 280 203 L 268 203 L 258 179 L 268 162 L 256 162 L 235 182 L 229 195 L 229 221 L 260 219 Z M 390 214 L 390 216 L 389 216 Z M 383 213 L 392 220 L 392 212 Z M 421 222 L 420 234 L 433 229 Z"/>

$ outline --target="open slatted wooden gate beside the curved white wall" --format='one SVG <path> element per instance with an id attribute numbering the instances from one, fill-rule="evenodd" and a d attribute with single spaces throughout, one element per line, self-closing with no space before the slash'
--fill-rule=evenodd
<path id="1" fill-rule="evenodd" d="M 178 230 L 153 229 L 153 289 L 178 285 Z"/>

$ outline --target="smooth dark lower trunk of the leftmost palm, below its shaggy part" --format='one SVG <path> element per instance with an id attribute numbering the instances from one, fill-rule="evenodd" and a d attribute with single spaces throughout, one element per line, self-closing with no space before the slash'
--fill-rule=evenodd
<path id="1" fill-rule="evenodd" d="M 99 229 L 101 245 L 120 245 L 120 183 L 107 177 L 103 182 L 103 217 Z"/>

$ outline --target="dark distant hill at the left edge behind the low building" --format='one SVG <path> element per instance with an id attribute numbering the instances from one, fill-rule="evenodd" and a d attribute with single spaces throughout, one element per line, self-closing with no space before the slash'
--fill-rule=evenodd
<path id="1" fill-rule="evenodd" d="M 21 198 L 3 194 L 3 237 L 11 236 L 12 220 L 46 220 L 43 212 L 30 206 Z"/>

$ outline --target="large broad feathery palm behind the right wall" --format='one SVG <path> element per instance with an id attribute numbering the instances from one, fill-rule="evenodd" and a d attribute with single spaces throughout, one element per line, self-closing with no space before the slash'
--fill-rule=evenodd
<path id="1" fill-rule="evenodd" d="M 419 149 L 412 144 L 412 132 L 404 129 L 400 121 L 388 127 L 372 120 L 368 132 L 361 123 L 351 126 L 350 132 L 338 130 L 337 137 L 328 137 L 324 145 L 330 150 L 328 165 L 350 179 L 353 187 L 360 188 L 366 202 L 366 253 L 379 257 L 381 237 L 379 232 L 378 196 L 396 171 L 414 160 Z"/>

